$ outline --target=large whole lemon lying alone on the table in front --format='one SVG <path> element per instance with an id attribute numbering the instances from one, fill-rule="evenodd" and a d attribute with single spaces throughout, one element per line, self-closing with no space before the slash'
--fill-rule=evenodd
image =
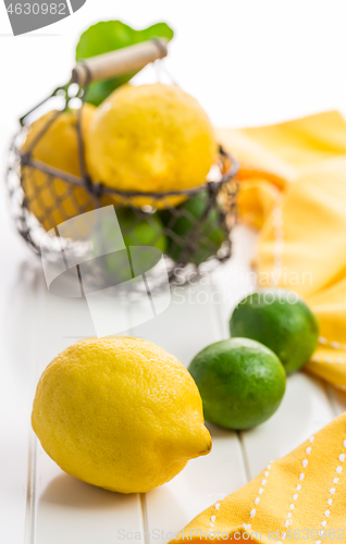
<path id="1" fill-rule="evenodd" d="M 183 364 L 140 338 L 77 342 L 45 370 L 33 429 L 69 474 L 144 493 L 211 449 L 197 386 Z"/>

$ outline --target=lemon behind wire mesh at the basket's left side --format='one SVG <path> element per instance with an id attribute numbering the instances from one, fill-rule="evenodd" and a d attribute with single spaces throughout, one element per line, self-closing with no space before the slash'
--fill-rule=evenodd
<path id="1" fill-rule="evenodd" d="M 94 118 L 96 108 L 85 104 L 82 112 L 82 128 L 84 138 Z M 46 113 L 33 123 L 23 150 L 27 150 L 40 132 L 52 122 L 55 111 Z M 77 110 L 61 113 L 49 126 L 46 133 L 34 145 L 33 159 L 63 172 L 81 175 L 78 162 Z M 49 177 L 44 172 L 24 166 L 23 188 L 28 202 L 28 209 L 41 225 L 49 231 L 58 224 L 94 209 L 90 195 L 83 187 L 73 186 L 58 177 Z"/>

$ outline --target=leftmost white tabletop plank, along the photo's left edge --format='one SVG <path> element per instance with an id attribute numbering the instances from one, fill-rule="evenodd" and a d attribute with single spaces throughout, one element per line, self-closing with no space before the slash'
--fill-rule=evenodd
<path id="1" fill-rule="evenodd" d="M 30 532 L 29 412 L 37 299 L 30 263 L 24 265 L 14 256 L 5 263 L 0 282 L 0 542 L 17 544 Z"/>

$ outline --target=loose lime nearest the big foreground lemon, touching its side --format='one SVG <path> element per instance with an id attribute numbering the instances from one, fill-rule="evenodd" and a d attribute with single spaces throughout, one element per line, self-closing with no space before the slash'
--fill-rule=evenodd
<path id="1" fill-rule="evenodd" d="M 250 429 L 279 408 L 285 370 L 268 347 L 248 338 L 217 342 L 188 368 L 203 404 L 205 418 L 226 429 Z"/>

